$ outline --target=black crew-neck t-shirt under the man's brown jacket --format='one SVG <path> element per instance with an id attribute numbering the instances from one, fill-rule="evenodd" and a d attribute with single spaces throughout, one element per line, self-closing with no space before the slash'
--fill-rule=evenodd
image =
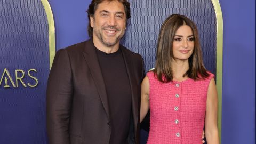
<path id="1" fill-rule="evenodd" d="M 131 116 L 131 88 L 120 49 L 105 53 L 95 48 L 106 85 L 110 109 L 110 144 L 127 143 Z"/>

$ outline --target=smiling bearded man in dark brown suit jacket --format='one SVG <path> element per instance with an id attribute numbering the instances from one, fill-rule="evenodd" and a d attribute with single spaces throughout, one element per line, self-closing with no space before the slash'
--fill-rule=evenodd
<path id="1" fill-rule="evenodd" d="M 92 0 L 91 39 L 61 49 L 50 71 L 50 144 L 139 143 L 141 55 L 120 45 L 130 18 L 126 0 Z"/>

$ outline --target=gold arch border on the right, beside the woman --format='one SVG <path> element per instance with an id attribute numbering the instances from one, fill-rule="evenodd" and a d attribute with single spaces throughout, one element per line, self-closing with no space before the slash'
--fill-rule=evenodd
<path id="1" fill-rule="evenodd" d="M 217 66 L 216 85 L 218 90 L 218 129 L 221 143 L 221 114 L 222 114 L 222 51 L 223 51 L 223 17 L 219 0 L 212 0 L 217 21 Z"/>

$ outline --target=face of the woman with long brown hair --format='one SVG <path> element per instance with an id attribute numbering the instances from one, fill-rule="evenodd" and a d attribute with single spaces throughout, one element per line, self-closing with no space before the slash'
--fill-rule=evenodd
<path id="1" fill-rule="evenodd" d="M 192 29 L 188 25 L 180 26 L 173 39 L 174 60 L 188 60 L 194 50 L 195 42 Z"/>

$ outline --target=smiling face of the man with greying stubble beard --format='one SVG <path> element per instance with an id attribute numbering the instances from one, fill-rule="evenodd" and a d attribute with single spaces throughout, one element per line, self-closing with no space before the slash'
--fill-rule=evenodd
<path id="1" fill-rule="evenodd" d="M 118 1 L 103 1 L 90 19 L 95 45 L 113 47 L 124 35 L 126 15 L 124 6 Z"/>

